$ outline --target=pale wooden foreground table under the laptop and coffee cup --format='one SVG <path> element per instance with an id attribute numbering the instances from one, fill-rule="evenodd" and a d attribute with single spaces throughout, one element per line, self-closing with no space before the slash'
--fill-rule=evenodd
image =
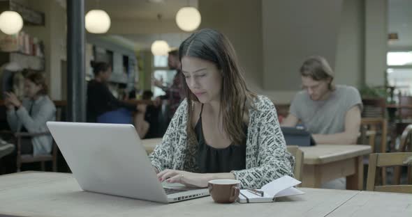
<path id="1" fill-rule="evenodd" d="M 408 216 L 411 195 L 300 188 L 305 195 L 258 204 L 198 198 L 160 204 L 82 191 L 68 173 L 0 176 L 0 214 L 13 216 Z M 385 204 L 385 205 L 383 205 Z M 366 211 L 369 211 L 365 214 Z M 370 215 L 369 215 L 370 214 Z"/>

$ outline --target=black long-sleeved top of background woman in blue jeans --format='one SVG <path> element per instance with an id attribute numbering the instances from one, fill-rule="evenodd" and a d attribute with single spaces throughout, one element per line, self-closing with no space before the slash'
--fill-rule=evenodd
<path id="1" fill-rule="evenodd" d="M 126 108 L 135 111 L 136 106 L 127 104 L 112 95 L 105 83 L 91 80 L 87 84 L 87 122 L 96 122 L 97 117 L 108 111 Z"/>

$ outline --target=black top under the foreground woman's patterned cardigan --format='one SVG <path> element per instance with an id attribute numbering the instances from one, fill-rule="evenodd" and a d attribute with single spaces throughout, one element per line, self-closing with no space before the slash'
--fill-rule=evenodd
<path id="1" fill-rule="evenodd" d="M 246 168 L 246 140 L 242 144 L 230 144 L 226 148 L 215 148 L 206 144 L 203 137 L 202 110 L 195 131 L 198 138 L 198 166 L 201 173 L 230 172 Z M 244 125 L 245 134 L 247 126 Z"/>

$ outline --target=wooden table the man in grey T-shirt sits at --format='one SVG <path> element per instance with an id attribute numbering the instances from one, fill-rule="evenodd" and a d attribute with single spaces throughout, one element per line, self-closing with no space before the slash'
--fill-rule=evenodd
<path id="1" fill-rule="evenodd" d="M 304 152 L 302 186 L 319 188 L 325 182 L 346 177 L 346 189 L 363 189 L 363 163 L 369 145 L 316 145 Z"/>

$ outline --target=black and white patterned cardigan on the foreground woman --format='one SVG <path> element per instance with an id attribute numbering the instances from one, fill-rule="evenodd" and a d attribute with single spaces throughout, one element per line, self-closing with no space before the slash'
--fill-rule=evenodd
<path id="1" fill-rule="evenodd" d="M 196 145 L 188 145 L 187 101 L 180 104 L 163 140 L 149 159 L 159 171 L 165 169 L 197 172 Z M 195 141 L 196 142 L 196 141 Z M 241 187 L 260 188 L 284 175 L 293 176 L 294 159 L 286 150 L 284 136 L 273 103 L 264 96 L 253 100 L 249 109 L 246 169 L 231 171 Z"/>

